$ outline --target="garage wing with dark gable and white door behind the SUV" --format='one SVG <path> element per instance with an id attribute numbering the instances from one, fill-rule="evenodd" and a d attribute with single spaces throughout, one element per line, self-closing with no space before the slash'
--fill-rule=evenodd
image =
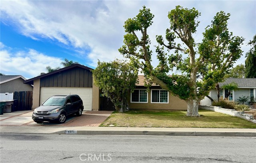
<path id="1" fill-rule="evenodd" d="M 92 68 L 74 64 L 24 81 L 25 84 L 34 85 L 32 108 L 42 105 L 52 95 L 77 94 L 83 100 L 84 110 L 98 110 L 99 90 L 95 87 L 93 91 L 90 70 Z"/>

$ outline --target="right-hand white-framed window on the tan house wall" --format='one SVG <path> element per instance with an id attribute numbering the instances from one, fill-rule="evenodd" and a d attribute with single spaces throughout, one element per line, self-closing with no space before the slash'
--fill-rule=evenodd
<path id="1" fill-rule="evenodd" d="M 163 90 L 163 89 L 159 89 L 159 90 L 155 90 L 152 89 L 151 90 L 151 102 L 152 103 L 168 103 L 168 91 Z"/>

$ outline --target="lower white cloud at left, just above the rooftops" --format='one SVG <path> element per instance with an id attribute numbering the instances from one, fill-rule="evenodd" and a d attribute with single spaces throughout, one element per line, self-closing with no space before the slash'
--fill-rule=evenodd
<path id="1" fill-rule="evenodd" d="M 40 75 L 41 72 L 46 72 L 46 66 L 55 68 L 62 62 L 60 58 L 47 56 L 33 49 L 12 52 L 2 43 L 0 45 L 5 47 L 0 50 L 0 70 L 6 75 L 22 75 L 25 78 L 33 78 Z"/>

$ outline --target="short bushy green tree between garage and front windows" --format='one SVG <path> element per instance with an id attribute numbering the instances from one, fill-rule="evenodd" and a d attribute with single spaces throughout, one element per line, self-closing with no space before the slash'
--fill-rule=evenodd
<path id="1" fill-rule="evenodd" d="M 113 62 L 98 62 L 92 70 L 94 85 L 102 90 L 102 94 L 114 103 L 116 111 L 124 112 L 128 107 L 129 91 L 135 89 L 138 78 L 138 68 L 130 62 L 114 60 Z"/>

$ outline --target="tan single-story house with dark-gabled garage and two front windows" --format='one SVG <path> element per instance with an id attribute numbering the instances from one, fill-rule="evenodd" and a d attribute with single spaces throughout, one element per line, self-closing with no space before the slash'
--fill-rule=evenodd
<path id="1" fill-rule="evenodd" d="M 78 94 L 83 100 L 84 110 L 113 110 L 112 102 L 102 97 L 99 88 L 93 85 L 90 70 L 92 68 L 74 64 L 24 81 L 34 85 L 32 108 L 42 105 L 52 95 Z M 172 96 L 158 85 L 152 85 L 150 92 L 147 92 L 144 76 L 138 78 L 139 83 L 128 99 L 131 109 L 187 109 L 184 100 Z"/>

